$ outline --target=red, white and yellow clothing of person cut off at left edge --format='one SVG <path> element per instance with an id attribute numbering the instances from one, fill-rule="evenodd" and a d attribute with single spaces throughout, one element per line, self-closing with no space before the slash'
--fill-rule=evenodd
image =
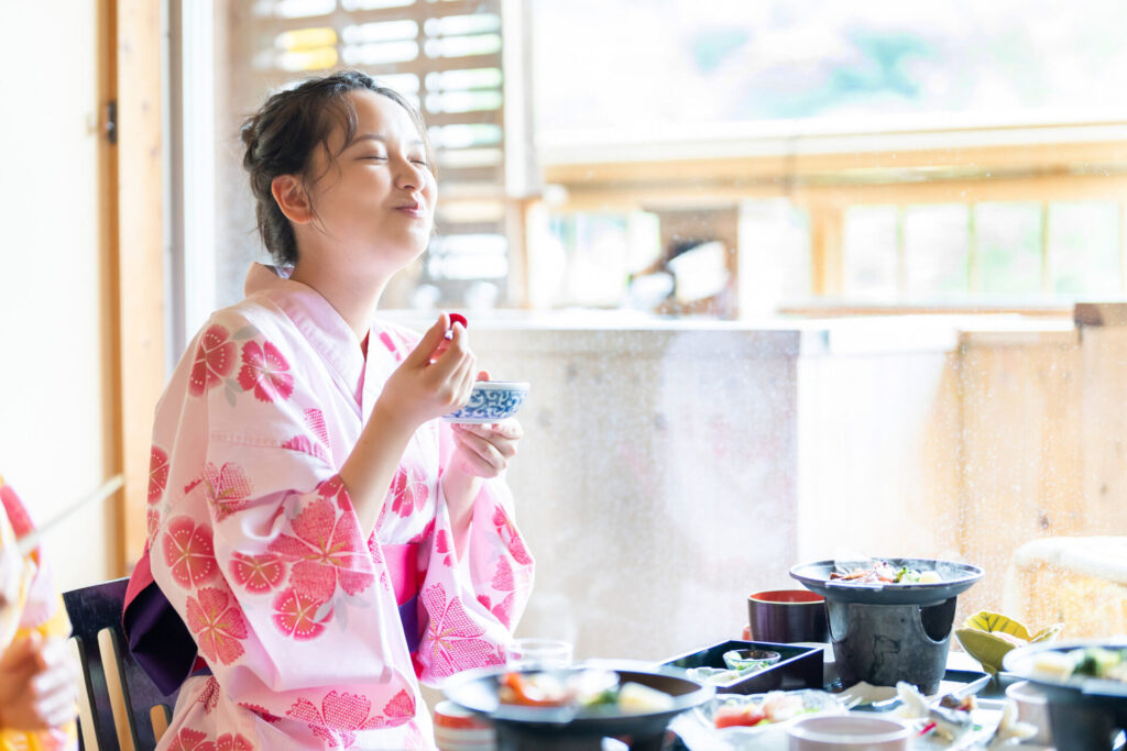
<path id="1" fill-rule="evenodd" d="M 32 518 L 19 497 L 0 477 L 0 571 L 9 566 L 14 576 L 12 605 L 0 613 L 0 651 L 16 640 L 38 632 L 43 636 L 66 638 L 70 619 L 62 596 L 54 588 L 51 573 L 34 551 L 20 557 L 16 540 L 33 528 Z M 0 751 L 63 751 L 78 748 L 78 727 L 73 722 L 51 731 L 26 732 L 0 727 Z"/>

